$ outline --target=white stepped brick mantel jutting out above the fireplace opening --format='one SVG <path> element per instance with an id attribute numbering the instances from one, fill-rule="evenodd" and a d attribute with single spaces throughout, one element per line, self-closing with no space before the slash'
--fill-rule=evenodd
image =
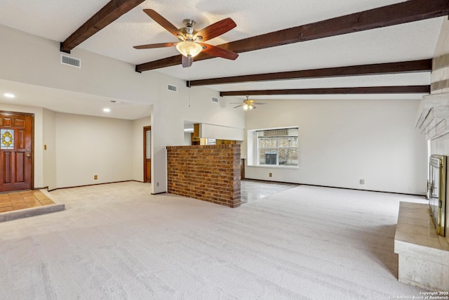
<path id="1" fill-rule="evenodd" d="M 449 93 L 422 98 L 416 128 L 426 135 L 427 140 L 434 140 L 449 133 Z"/>

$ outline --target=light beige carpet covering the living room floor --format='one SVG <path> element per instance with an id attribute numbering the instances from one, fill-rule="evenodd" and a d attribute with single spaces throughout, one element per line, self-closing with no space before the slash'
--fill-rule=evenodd
<path id="1" fill-rule="evenodd" d="M 0 299 L 391 299 L 399 201 L 301 185 L 236 209 L 128 182 L 0 223 Z"/>

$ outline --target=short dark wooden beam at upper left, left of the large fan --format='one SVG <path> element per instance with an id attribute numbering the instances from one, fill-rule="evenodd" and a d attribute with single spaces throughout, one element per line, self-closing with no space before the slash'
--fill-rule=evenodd
<path id="1" fill-rule="evenodd" d="M 60 44 L 60 51 L 70 53 L 73 48 L 86 41 L 93 34 L 99 32 L 131 9 L 135 8 L 145 0 L 112 0 L 103 6 L 98 13 L 87 20 L 74 33 Z"/>

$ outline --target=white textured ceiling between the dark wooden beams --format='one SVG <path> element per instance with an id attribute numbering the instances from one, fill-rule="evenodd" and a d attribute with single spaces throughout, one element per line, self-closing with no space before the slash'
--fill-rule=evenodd
<path id="1" fill-rule="evenodd" d="M 0 24 L 39 37 L 64 41 L 109 0 L 2 0 Z M 166 0 L 145 1 L 93 37 L 79 45 L 88 51 L 140 64 L 177 55 L 175 48 L 135 50 L 133 46 L 175 41 L 175 37 L 149 18 L 142 9 L 152 8 L 177 27 L 182 20 L 196 20 L 200 30 L 223 18 L 232 18 L 237 27 L 209 44 L 224 44 L 258 34 L 296 27 L 371 8 L 387 6 L 395 0 Z M 181 79 L 207 79 L 244 74 L 307 70 L 323 67 L 389 63 L 431 58 L 443 18 L 384 27 L 337 37 L 277 46 L 241 53 L 237 60 L 214 58 L 149 72 L 163 72 Z M 262 83 L 208 86 L 217 91 L 251 89 L 306 89 L 315 87 L 384 86 L 429 84 L 430 74 L 377 75 L 327 79 L 265 81 Z M 321 96 L 328 98 L 332 96 Z M 341 96 L 337 96 L 340 98 Z M 380 97 L 380 96 L 377 96 Z M 389 96 L 383 96 L 389 97 Z M 397 97 L 397 96 L 395 96 Z M 417 95 L 417 97 L 420 97 Z M 274 98 L 257 96 L 254 98 Z M 276 98 L 295 98 L 278 96 Z M 297 96 L 297 98 L 304 98 Z"/>

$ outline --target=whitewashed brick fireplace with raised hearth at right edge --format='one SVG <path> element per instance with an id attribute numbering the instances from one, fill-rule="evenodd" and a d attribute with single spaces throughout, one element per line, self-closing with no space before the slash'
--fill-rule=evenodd
<path id="1" fill-rule="evenodd" d="M 441 171 L 442 164 L 433 162 L 449 156 L 449 94 L 424 96 L 417 115 L 416 127 L 429 142 L 429 204 L 401 202 L 394 237 L 394 252 L 398 254 L 398 280 L 431 291 L 449 290 L 449 235 L 444 217 L 434 224 L 431 209 L 441 207 L 438 214 L 448 216 L 448 205 L 438 204 L 447 199 L 441 190 L 448 177 Z M 424 157 L 423 157 L 424 159 Z M 433 176 L 438 173 L 438 176 Z M 436 178 L 438 177 L 438 179 Z M 443 193 L 443 195 L 441 194 Z M 433 199 L 436 202 L 433 204 Z M 434 212 L 434 215 L 436 213 Z M 437 233 L 444 233 L 438 235 Z"/>

